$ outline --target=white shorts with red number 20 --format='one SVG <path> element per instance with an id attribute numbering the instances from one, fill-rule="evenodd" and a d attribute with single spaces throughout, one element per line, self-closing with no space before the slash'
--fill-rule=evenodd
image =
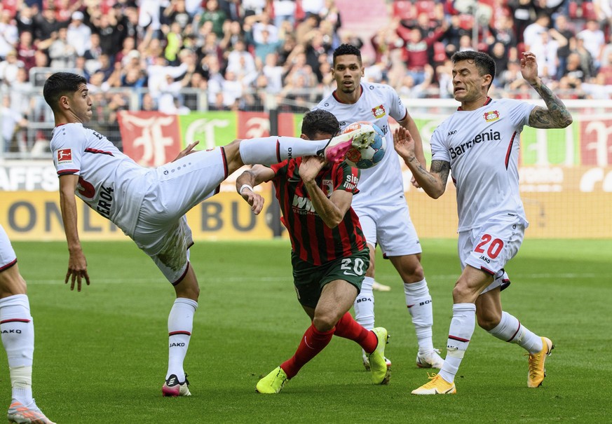
<path id="1" fill-rule="evenodd" d="M 493 217 L 480 228 L 459 233 L 461 269 L 470 265 L 494 278 L 482 293 L 496 287 L 503 290 L 510 285 L 504 266 L 519 252 L 524 234 L 525 226 L 517 217 Z"/>

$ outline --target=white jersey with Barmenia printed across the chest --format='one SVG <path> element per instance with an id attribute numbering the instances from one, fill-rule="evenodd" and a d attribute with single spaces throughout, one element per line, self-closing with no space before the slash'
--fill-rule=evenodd
<path id="1" fill-rule="evenodd" d="M 528 225 L 519 195 L 519 142 L 535 106 L 488 99 L 475 111 L 459 109 L 431 136 L 432 161 L 451 164 L 457 189 L 458 231 L 482 226 L 496 215 Z"/>

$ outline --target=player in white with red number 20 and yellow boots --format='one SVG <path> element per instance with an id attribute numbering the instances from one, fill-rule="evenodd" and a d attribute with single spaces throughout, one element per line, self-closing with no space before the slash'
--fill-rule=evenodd
<path id="1" fill-rule="evenodd" d="M 504 266 L 517 254 L 529 225 L 519 195 L 519 137 L 524 125 L 565 128 L 572 122 L 571 114 L 538 77 L 536 57 L 531 52 L 523 53 L 521 73 L 546 107 L 520 100 L 491 100 L 487 93 L 495 76 L 495 62 L 486 53 L 459 52 L 451 60 L 454 97 L 461 107 L 431 137 L 429 172 L 416 156 L 409 132 L 400 128 L 393 136 L 397 153 L 430 197 L 442 196 L 452 170 L 463 270 L 453 289 L 453 317 L 444 365 L 412 393 L 456 392 L 454 378 L 476 321 L 491 335 L 527 350 L 527 386 L 536 388 L 544 380 L 544 363 L 553 348 L 552 341 L 526 329 L 501 306 L 501 290 L 510 284 Z"/>

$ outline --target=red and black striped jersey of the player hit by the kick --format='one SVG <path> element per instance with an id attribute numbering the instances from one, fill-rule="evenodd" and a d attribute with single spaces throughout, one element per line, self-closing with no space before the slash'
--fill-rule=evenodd
<path id="1" fill-rule="evenodd" d="M 352 207 L 336 228 L 325 225 L 299 177 L 300 163 L 301 158 L 297 158 L 271 166 L 276 173 L 271 181 L 283 212 L 281 221 L 289 232 L 293 252 L 299 259 L 318 266 L 365 249 L 365 237 Z M 359 170 L 342 162 L 323 168 L 315 181 L 328 198 L 334 190 L 355 194 Z"/>

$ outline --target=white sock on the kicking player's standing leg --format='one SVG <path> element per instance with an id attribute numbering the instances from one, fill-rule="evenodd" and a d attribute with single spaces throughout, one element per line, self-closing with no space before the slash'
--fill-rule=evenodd
<path id="1" fill-rule="evenodd" d="M 193 314 L 196 313 L 198 302 L 179 297 L 175 300 L 168 315 L 168 373 L 166 380 L 172 375 L 177 376 L 179 382 L 185 381 L 183 362 L 189 338 L 193 329 Z"/>

